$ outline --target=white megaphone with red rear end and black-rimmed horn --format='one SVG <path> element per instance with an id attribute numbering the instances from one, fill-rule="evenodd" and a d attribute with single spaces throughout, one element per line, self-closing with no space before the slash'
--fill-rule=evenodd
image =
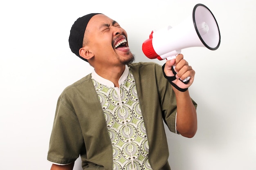
<path id="1" fill-rule="evenodd" d="M 196 4 L 192 18 L 187 18 L 180 25 L 152 31 L 149 39 L 142 44 L 142 51 L 150 59 L 171 60 L 182 49 L 196 46 L 210 50 L 216 50 L 220 46 L 218 23 L 204 4 Z"/>

